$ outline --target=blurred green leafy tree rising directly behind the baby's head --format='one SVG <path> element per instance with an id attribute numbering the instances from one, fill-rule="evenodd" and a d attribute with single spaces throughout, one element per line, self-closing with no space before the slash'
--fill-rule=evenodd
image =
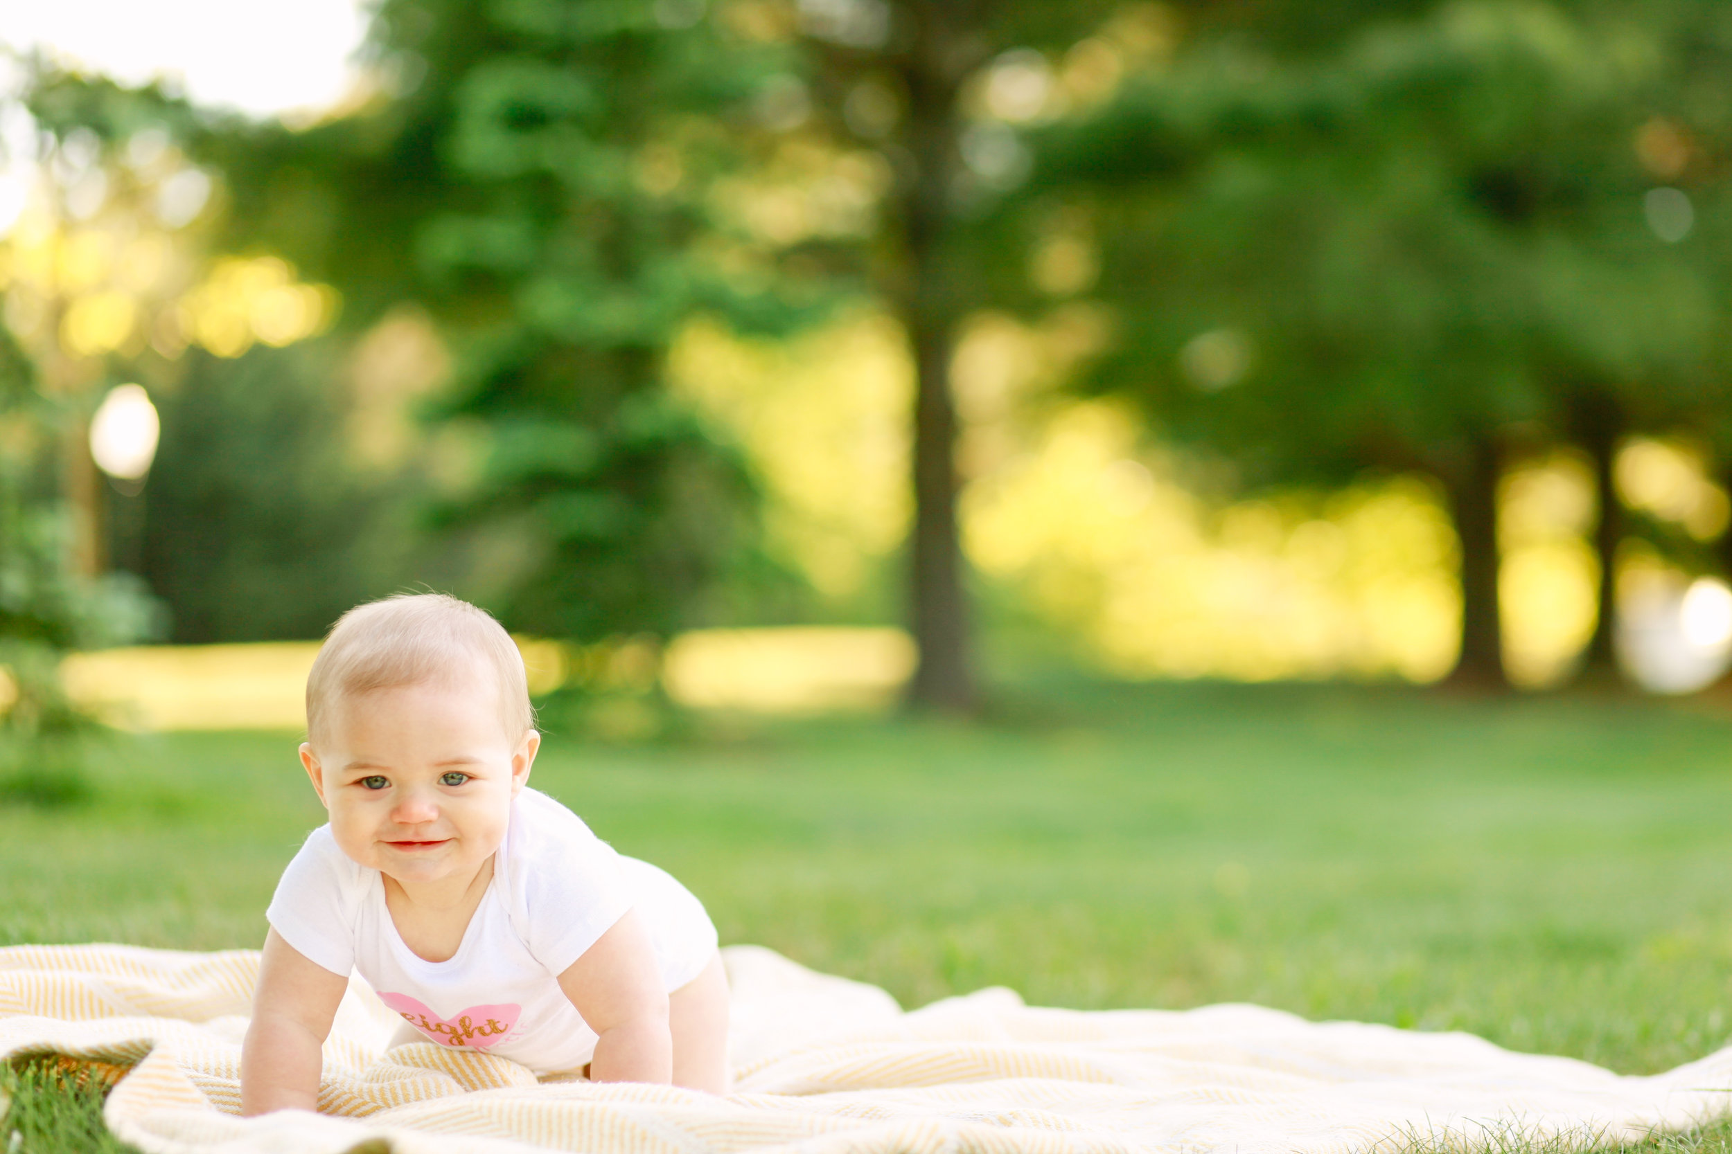
<path id="1" fill-rule="evenodd" d="M 764 64 L 701 16 L 388 0 L 374 99 L 196 145 L 225 173 L 236 244 L 338 284 L 353 329 L 416 299 L 454 344 L 430 415 L 466 431 L 480 467 L 436 523 L 511 569 L 495 607 L 513 628 L 689 625 L 740 543 L 743 469 L 662 388 L 663 351 L 698 311 L 792 313 L 772 254 L 708 201 Z"/>

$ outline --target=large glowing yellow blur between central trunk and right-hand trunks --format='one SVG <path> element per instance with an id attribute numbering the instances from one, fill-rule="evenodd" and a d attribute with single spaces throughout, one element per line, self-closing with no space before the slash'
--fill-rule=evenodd
<path id="1" fill-rule="evenodd" d="M 1124 410 L 1055 417 L 965 498 L 968 554 L 1121 676 L 1399 676 L 1455 661 L 1455 538 L 1424 483 L 1211 505 Z"/>

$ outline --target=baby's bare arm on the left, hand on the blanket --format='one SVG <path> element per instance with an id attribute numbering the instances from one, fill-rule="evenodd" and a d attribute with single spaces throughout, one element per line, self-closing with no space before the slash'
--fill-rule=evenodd
<path id="1" fill-rule="evenodd" d="M 319 1109 L 319 1048 L 331 1033 L 348 978 L 307 960 L 275 929 L 253 995 L 253 1023 L 241 1045 L 241 1112 Z"/>

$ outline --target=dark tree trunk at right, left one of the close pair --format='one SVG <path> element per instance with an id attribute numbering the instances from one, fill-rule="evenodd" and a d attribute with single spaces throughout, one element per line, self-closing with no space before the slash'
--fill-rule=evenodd
<path id="1" fill-rule="evenodd" d="M 1474 436 L 1464 469 L 1450 478 L 1455 533 L 1462 542 L 1462 656 L 1450 682 L 1509 687 L 1503 673 L 1503 614 L 1498 606 L 1498 481 L 1503 453 L 1495 436 Z"/>

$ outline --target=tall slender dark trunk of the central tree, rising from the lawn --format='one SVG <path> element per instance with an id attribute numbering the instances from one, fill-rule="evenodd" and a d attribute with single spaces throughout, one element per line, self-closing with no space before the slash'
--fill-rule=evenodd
<path id="1" fill-rule="evenodd" d="M 951 353 L 961 313 L 947 260 L 958 164 L 956 29 L 942 3 L 911 5 L 918 29 L 902 64 L 913 175 L 899 197 L 902 282 L 897 310 L 914 355 L 914 529 L 909 538 L 909 628 L 920 664 L 908 689 L 916 709 L 973 711 L 968 595 L 956 524 L 956 405 Z"/>

